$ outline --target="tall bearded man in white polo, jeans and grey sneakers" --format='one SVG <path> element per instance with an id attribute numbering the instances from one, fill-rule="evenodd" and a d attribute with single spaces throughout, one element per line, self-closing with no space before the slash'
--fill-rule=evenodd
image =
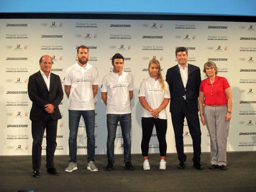
<path id="1" fill-rule="evenodd" d="M 94 97 L 98 91 L 99 75 L 95 67 L 88 63 L 89 50 L 86 46 L 77 48 L 78 61 L 69 67 L 63 80 L 65 93 L 69 99 L 69 156 L 70 163 L 65 172 L 77 169 L 77 132 L 81 116 L 86 124 L 87 169 L 96 172 L 95 155 L 95 106 Z"/>

